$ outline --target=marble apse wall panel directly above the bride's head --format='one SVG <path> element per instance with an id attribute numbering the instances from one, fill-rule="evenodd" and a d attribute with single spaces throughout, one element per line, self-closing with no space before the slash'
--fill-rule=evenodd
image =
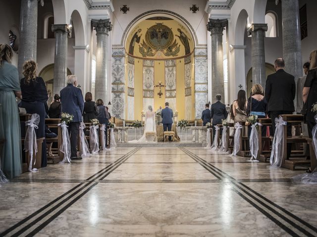
<path id="1" fill-rule="evenodd" d="M 143 60 L 143 110 L 154 107 L 154 61 Z"/>

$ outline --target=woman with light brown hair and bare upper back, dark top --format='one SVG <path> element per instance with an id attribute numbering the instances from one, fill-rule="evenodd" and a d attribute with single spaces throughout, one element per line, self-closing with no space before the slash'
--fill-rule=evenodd
<path id="1" fill-rule="evenodd" d="M 248 99 L 247 115 L 257 115 L 258 118 L 266 117 L 267 102 L 263 96 L 264 90 L 261 84 L 254 84 L 251 88 L 252 96 Z M 251 134 L 251 124 L 248 129 L 248 136 Z M 262 136 L 266 135 L 266 126 L 262 126 Z"/>

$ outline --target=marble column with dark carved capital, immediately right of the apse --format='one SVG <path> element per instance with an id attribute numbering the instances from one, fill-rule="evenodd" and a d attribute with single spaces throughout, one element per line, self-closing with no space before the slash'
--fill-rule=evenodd
<path id="1" fill-rule="evenodd" d="M 224 102 L 222 32 L 227 24 L 227 19 L 209 19 L 207 24 L 207 30 L 211 32 L 211 98 L 214 100 L 216 94 L 221 94 L 222 102 Z"/>

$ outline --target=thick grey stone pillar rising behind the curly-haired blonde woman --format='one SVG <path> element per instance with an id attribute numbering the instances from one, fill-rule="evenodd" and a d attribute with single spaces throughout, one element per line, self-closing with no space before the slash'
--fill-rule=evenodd
<path id="1" fill-rule="evenodd" d="M 18 70 L 23 78 L 22 67 L 26 60 L 36 61 L 38 31 L 38 0 L 21 0 L 20 40 L 18 55 Z"/>

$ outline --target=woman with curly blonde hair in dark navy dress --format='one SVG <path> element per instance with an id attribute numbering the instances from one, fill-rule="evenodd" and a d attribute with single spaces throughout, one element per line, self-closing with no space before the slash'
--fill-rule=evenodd
<path id="1" fill-rule="evenodd" d="M 45 82 L 42 78 L 37 77 L 37 65 L 33 60 L 25 61 L 23 64 L 23 75 L 21 79 L 22 101 L 21 108 L 25 108 L 28 114 L 38 114 L 40 123 L 38 129 L 35 129 L 37 138 L 45 138 L 45 103 L 48 101 L 48 92 Z M 42 167 L 47 166 L 46 140 L 42 144 Z"/>

